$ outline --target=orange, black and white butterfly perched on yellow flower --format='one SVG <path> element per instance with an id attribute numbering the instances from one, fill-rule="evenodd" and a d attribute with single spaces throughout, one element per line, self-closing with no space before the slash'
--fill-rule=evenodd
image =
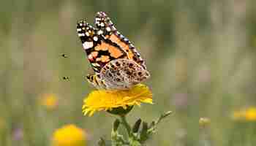
<path id="1" fill-rule="evenodd" d="M 77 24 L 78 37 L 95 72 L 86 78 L 94 87 L 125 90 L 150 77 L 138 50 L 117 31 L 105 12 L 97 12 L 94 25 L 85 20 Z"/>

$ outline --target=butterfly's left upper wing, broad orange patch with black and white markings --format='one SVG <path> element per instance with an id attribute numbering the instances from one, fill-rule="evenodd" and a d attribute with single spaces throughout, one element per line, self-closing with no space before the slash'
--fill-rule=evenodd
<path id="1" fill-rule="evenodd" d="M 99 35 L 100 30 L 89 23 L 80 21 L 77 24 L 78 37 L 83 44 L 83 49 L 89 58 L 94 72 L 100 72 L 105 64 L 118 58 L 127 58 L 127 54 L 118 45 Z"/>

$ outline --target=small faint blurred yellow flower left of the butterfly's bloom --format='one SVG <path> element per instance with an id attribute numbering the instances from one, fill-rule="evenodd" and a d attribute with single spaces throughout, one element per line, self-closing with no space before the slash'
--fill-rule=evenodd
<path id="1" fill-rule="evenodd" d="M 53 110 L 58 104 L 58 99 L 53 94 L 46 94 L 42 97 L 40 104 L 45 106 L 48 110 Z"/>

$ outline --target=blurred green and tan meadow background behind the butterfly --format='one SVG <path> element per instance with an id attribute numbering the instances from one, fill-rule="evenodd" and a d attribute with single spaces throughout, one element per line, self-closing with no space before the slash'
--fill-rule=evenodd
<path id="1" fill-rule="evenodd" d="M 1 146 L 50 145 L 68 123 L 85 129 L 89 145 L 110 139 L 113 115 L 81 112 L 94 88 L 83 78 L 92 70 L 76 23 L 92 24 L 98 11 L 138 47 L 151 72 L 145 83 L 154 105 L 134 108 L 129 122 L 174 112 L 147 145 L 256 145 L 256 128 L 239 131 L 230 119 L 256 106 L 256 1 L 10 0 L 0 5 Z M 49 110 L 45 95 L 58 104 Z M 208 128 L 200 117 L 211 119 Z M 232 136 L 241 132 L 242 140 Z"/>

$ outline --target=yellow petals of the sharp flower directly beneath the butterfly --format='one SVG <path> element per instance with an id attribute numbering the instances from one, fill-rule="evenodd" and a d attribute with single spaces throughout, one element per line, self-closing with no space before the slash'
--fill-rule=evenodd
<path id="1" fill-rule="evenodd" d="M 120 107 L 126 110 L 133 105 L 140 106 L 141 102 L 153 104 L 152 93 L 143 84 L 135 85 L 129 90 L 92 91 L 83 102 L 83 113 L 89 116 L 96 111 L 111 111 Z"/>

